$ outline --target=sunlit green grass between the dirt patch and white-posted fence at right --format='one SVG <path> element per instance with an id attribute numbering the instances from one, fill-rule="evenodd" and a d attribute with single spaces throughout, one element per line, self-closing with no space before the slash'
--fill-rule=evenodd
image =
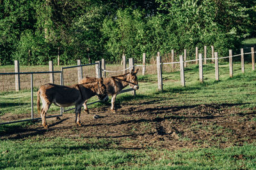
<path id="1" fill-rule="evenodd" d="M 241 73 L 240 64 L 234 64 L 234 77 L 229 78 L 229 67 L 224 64 L 220 67 L 220 81 L 215 80 L 214 66 L 204 66 L 204 83 L 199 82 L 198 67 L 191 66 L 185 71 L 186 87 L 180 86 L 180 73 L 163 74 L 163 92 L 157 92 L 157 82 L 143 83 L 140 85 L 143 94 L 154 94 L 161 97 L 162 101 L 170 101 L 176 105 L 184 104 L 223 104 L 242 103 L 244 107 L 255 107 L 256 99 L 256 74 L 251 71 L 250 64 L 246 64 L 245 73 Z M 144 77 L 141 76 L 143 81 Z M 156 75 L 145 76 L 146 81 L 156 81 Z M 177 96 L 177 97 L 175 97 Z M 150 96 L 151 98 L 153 96 Z"/>

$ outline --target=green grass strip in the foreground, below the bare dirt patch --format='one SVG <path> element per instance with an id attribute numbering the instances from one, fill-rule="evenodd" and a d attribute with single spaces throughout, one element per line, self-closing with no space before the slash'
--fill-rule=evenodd
<path id="1" fill-rule="evenodd" d="M 95 142 L 97 141 L 97 142 Z M 256 147 L 233 146 L 224 150 L 109 149 L 111 141 L 44 139 L 0 141 L 0 168 L 7 169 L 253 169 Z"/>

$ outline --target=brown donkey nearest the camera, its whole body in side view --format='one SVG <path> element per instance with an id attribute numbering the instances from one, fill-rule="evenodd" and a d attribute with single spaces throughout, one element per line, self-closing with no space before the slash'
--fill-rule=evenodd
<path id="1" fill-rule="evenodd" d="M 76 106 L 76 124 L 81 126 L 80 115 L 84 101 L 92 96 L 106 96 L 106 86 L 103 79 L 95 82 L 81 83 L 71 86 L 55 85 L 48 83 L 42 85 L 37 92 L 37 110 L 41 113 L 42 125 L 47 128 L 46 113 L 52 103 L 60 107 Z M 40 111 L 40 99 L 42 100 L 42 110 Z"/>

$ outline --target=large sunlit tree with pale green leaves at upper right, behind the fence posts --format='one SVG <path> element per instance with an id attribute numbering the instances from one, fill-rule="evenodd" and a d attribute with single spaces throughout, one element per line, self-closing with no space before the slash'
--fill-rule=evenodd
<path id="1" fill-rule="evenodd" d="M 239 46 L 245 36 L 241 20 L 248 17 L 246 9 L 234 1 L 175 0 L 160 1 L 159 15 L 164 17 L 165 31 L 170 39 L 167 46 L 178 52 L 184 48 L 214 45 L 221 55 Z M 176 36 L 177 38 L 175 38 Z M 192 50 L 192 49 L 191 49 Z"/>

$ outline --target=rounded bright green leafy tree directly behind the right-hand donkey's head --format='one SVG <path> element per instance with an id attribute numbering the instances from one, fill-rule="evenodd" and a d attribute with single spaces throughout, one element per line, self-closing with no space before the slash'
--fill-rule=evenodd
<path id="1" fill-rule="evenodd" d="M 122 54 L 140 59 L 147 49 L 146 25 L 140 10 L 118 10 L 116 16 L 104 20 L 102 32 L 107 39 L 105 48 L 120 61 Z"/>

